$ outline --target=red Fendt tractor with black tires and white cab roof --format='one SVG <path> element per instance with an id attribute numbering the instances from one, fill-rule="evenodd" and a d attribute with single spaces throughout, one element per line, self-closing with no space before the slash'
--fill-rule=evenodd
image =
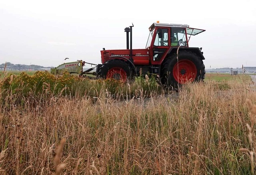
<path id="1" fill-rule="evenodd" d="M 204 79 L 205 59 L 202 47 L 189 47 L 191 35 L 202 33 L 203 29 L 190 28 L 182 24 L 153 23 L 145 49 L 132 49 L 132 27 L 125 28 L 127 49 L 101 52 L 102 64 L 96 69 L 98 78 L 114 78 L 122 81 L 142 75 L 159 75 L 161 83 L 172 87 L 186 82 Z M 130 49 L 129 49 L 130 32 Z M 179 50 L 178 50 L 179 49 Z M 178 59 L 177 59 L 178 50 Z"/>

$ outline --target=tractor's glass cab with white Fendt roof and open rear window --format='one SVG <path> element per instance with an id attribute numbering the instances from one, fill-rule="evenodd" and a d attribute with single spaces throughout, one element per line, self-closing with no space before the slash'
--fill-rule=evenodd
<path id="1" fill-rule="evenodd" d="M 186 49 L 191 35 L 197 35 L 205 30 L 190 28 L 187 24 L 153 23 L 146 49 L 149 50 L 152 65 L 162 64 L 164 58 L 175 52 L 179 46 Z"/>

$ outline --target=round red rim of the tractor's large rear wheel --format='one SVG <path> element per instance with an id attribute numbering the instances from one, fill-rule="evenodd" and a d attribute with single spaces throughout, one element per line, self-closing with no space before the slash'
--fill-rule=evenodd
<path id="1" fill-rule="evenodd" d="M 174 65 L 172 74 L 178 83 L 185 84 L 196 79 L 197 69 L 192 61 L 184 59 Z"/>

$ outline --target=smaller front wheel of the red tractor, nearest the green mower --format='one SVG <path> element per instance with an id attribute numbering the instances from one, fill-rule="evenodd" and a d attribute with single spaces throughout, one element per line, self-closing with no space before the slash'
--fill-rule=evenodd
<path id="1" fill-rule="evenodd" d="M 113 75 L 113 73 L 109 71 L 114 71 L 113 69 L 115 68 L 120 69 L 120 73 L 115 72 Z M 122 79 L 122 77 L 124 77 L 124 73 L 126 74 L 125 80 Z M 127 81 L 134 79 L 134 70 L 126 63 L 126 61 L 122 61 L 120 59 L 111 59 L 100 67 L 98 77 L 100 79 L 114 78 L 117 80 Z"/>

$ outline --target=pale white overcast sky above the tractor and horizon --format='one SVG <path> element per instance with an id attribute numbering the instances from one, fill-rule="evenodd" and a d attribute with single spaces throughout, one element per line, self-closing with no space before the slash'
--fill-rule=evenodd
<path id="1" fill-rule="evenodd" d="M 206 68 L 256 66 L 256 0 L 0 0 L 0 63 L 100 63 L 103 47 L 126 49 L 132 23 L 133 48 L 145 48 L 156 21 L 206 29 L 189 43 Z"/>

